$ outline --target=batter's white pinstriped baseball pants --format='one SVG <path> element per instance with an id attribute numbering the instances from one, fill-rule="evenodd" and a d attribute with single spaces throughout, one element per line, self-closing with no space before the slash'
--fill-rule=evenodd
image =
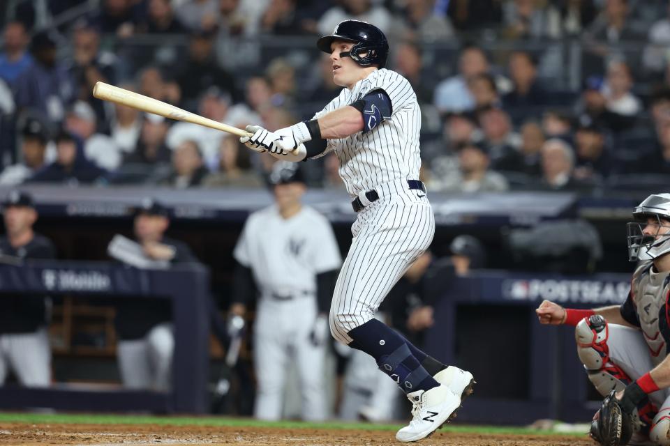
<path id="1" fill-rule="evenodd" d="M 348 332 L 375 316 L 379 305 L 433 241 L 435 217 L 424 192 L 406 180 L 376 187 L 380 199 L 358 213 L 352 245 L 335 285 L 330 330 L 349 344 Z"/>

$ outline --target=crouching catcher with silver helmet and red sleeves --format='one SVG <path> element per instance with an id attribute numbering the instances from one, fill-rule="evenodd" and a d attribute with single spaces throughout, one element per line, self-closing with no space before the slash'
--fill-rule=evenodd
<path id="1" fill-rule="evenodd" d="M 653 194 L 628 223 L 637 261 L 622 305 L 565 309 L 545 300 L 540 323 L 576 327 L 577 354 L 605 399 L 591 423 L 601 445 L 670 445 L 670 194 Z"/>

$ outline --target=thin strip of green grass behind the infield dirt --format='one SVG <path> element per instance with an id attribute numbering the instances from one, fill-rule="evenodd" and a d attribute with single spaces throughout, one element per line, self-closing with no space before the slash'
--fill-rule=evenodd
<path id="1" fill-rule="evenodd" d="M 350 422 L 265 422 L 248 418 L 231 417 L 156 417 L 150 415 L 94 415 L 94 414 L 44 414 L 44 413 L 0 413 L 0 423 L 30 424 L 159 424 L 171 426 L 239 426 L 274 427 L 276 429 L 364 429 L 369 431 L 395 431 L 398 424 L 369 424 Z M 509 433 L 530 435 L 557 435 L 553 431 L 535 431 L 533 429 L 501 426 L 445 426 L 445 431 L 455 433 Z M 583 433 L 560 433 L 560 435 L 583 436 Z"/>

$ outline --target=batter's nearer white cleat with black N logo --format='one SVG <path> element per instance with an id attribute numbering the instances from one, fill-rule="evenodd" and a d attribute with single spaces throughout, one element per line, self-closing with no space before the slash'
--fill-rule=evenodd
<path id="1" fill-rule="evenodd" d="M 456 415 L 461 399 L 446 385 L 408 393 L 412 401 L 412 421 L 396 433 L 396 440 L 417 441 L 426 438 Z"/>

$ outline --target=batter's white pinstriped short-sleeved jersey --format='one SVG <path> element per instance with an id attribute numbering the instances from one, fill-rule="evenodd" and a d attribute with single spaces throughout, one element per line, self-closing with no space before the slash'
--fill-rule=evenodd
<path id="1" fill-rule="evenodd" d="M 352 197 L 389 181 L 419 179 L 421 110 L 410 82 L 397 72 L 386 68 L 371 72 L 352 89 L 342 89 L 314 118 L 351 105 L 375 90 L 389 96 L 391 116 L 384 116 L 382 123 L 366 133 L 329 139 L 326 150 L 319 155 L 335 152 L 340 176 Z"/>

